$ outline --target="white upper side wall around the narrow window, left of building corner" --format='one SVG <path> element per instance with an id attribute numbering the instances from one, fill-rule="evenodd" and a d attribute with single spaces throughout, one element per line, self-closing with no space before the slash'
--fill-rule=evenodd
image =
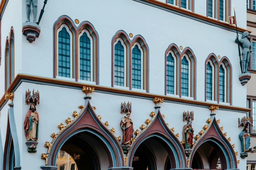
<path id="1" fill-rule="evenodd" d="M 14 78 L 22 70 L 22 17 L 21 1 L 9 0 L 1 19 L 1 65 L 0 65 L 0 96 L 5 93 L 5 43 L 11 26 L 14 29 Z M 14 12 L 15 11 L 15 12 Z"/>

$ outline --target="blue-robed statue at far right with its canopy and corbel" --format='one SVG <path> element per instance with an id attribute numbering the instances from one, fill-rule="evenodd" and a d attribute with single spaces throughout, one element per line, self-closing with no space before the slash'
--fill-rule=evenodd
<path id="1" fill-rule="evenodd" d="M 242 152 L 240 153 L 240 157 L 245 159 L 248 156 L 248 152 L 251 151 L 250 148 L 251 139 L 250 134 L 248 133 L 248 128 L 253 126 L 253 118 L 251 117 L 243 117 L 240 122 L 240 118 L 238 118 L 238 127 L 243 127 L 243 131 L 239 134 L 239 139 L 242 145 Z"/>

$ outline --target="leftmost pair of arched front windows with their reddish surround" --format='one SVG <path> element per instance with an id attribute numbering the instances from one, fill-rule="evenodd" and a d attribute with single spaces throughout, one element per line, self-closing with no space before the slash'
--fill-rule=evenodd
<path id="1" fill-rule="evenodd" d="M 54 25 L 54 78 L 98 84 L 98 34 L 83 21 L 79 27 L 67 16 Z"/>

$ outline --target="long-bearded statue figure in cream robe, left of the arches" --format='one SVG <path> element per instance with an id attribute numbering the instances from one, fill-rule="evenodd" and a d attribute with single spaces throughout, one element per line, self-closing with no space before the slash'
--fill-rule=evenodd
<path id="1" fill-rule="evenodd" d="M 24 131 L 27 141 L 37 141 L 39 128 L 39 115 L 36 106 L 31 104 L 24 120 Z"/>

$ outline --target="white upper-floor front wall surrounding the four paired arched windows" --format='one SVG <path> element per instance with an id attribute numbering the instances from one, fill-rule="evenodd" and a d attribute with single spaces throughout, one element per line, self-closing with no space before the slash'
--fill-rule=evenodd
<path id="1" fill-rule="evenodd" d="M 239 1 L 232 2 L 238 3 Z M 43 3 L 38 4 L 39 9 L 42 6 Z M 198 5 L 195 2 L 195 11 L 203 6 L 203 3 Z M 22 3 L 22 7 L 22 21 L 24 22 L 26 21 L 25 3 Z M 106 7 L 108 7 L 107 11 Z M 237 12 L 237 16 L 240 17 L 238 17 L 238 21 L 243 20 L 246 23 L 246 9 L 243 10 L 242 7 L 237 5 L 237 11 L 239 10 L 241 11 Z M 100 15 L 103 11 L 104 15 Z M 120 15 L 123 11 L 130 11 L 128 17 Z M 133 11 L 139 11 L 145 17 L 142 19 L 138 17 L 138 12 Z M 198 13 L 205 13 L 204 15 L 206 15 L 203 8 Z M 246 86 L 242 87 L 238 80 L 240 64 L 237 44 L 234 43 L 236 36 L 234 32 L 132 0 L 103 2 L 79 0 L 76 3 L 56 0 L 47 2 L 40 22 L 40 37 L 30 44 L 26 37 L 22 36 L 24 61 L 22 63 L 22 73 L 53 77 L 53 25 L 61 15 L 67 15 L 73 21 L 75 19 L 80 22 L 90 21 L 94 25 L 99 34 L 99 82 L 102 86 L 111 86 L 111 39 L 116 31 L 124 30 L 127 34 L 132 33 L 134 36 L 142 35 L 148 44 L 150 51 L 150 93 L 164 94 L 164 52 L 171 43 L 175 43 L 178 47 L 190 47 L 195 53 L 197 59 L 197 100 L 204 101 L 205 77 L 204 74 L 200 73 L 204 73 L 205 59 L 213 52 L 217 56 L 227 56 L 232 64 L 233 105 L 246 106 Z M 242 23 L 242 21 L 239 23 Z M 78 26 L 78 24 L 75 25 Z M 241 24 L 240 27 L 243 27 L 243 25 Z M 244 28 L 246 28 L 246 25 Z M 31 63 L 27 62 L 31 61 L 31 58 L 33 58 L 34 63 L 38 64 L 37 69 L 33 71 L 30 67 Z M 237 91 L 239 91 L 239 94 L 236 93 Z"/>

